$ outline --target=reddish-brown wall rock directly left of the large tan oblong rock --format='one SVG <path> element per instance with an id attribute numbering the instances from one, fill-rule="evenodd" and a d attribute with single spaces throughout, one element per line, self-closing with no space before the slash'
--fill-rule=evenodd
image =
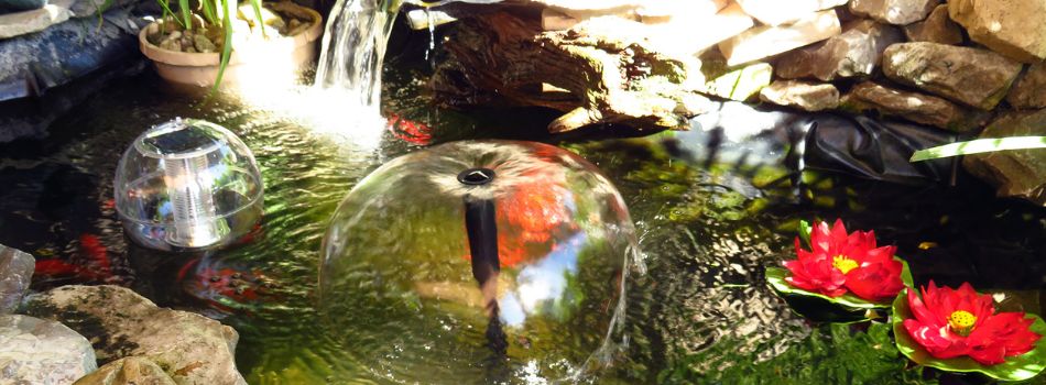
<path id="1" fill-rule="evenodd" d="M 869 77 L 882 63 L 883 51 L 903 42 L 894 26 L 871 20 L 848 23 L 840 35 L 781 55 L 777 76 L 785 79 L 814 77 L 824 81 Z"/>

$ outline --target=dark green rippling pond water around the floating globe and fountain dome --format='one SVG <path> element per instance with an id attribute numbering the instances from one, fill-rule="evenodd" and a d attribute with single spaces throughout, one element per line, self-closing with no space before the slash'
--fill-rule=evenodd
<path id="1" fill-rule="evenodd" d="M 970 280 L 1005 290 L 1006 306 L 1043 310 L 1046 212 L 995 199 L 987 186 L 905 187 L 809 170 L 789 178 L 795 172 L 782 164 L 695 163 L 669 145 L 673 138 L 699 141 L 700 133 L 549 138 L 544 127 L 554 113 L 436 110 L 420 91 L 421 77 L 393 61 L 383 109 L 432 131 L 386 132 L 367 146 L 339 143 L 236 97 L 200 107 L 198 95 L 170 88 L 151 72 L 116 81 L 57 120 L 47 140 L 0 146 L 0 243 L 54 261 L 37 272 L 36 289 L 124 285 L 235 327 L 238 367 L 252 384 L 391 382 L 345 354 L 341 344 L 351 342 L 318 327 L 320 241 L 329 218 L 363 176 L 416 151 L 425 135 L 432 143 L 521 139 L 597 165 L 629 206 L 646 254 L 646 274 L 633 275 L 629 286 L 626 351 L 600 383 L 976 382 L 909 367 L 882 326 L 815 326 L 794 315 L 766 287 L 763 270 L 793 257 L 799 219 L 843 218 L 851 229 L 874 229 L 881 243 L 898 246 L 919 284 Z M 175 117 L 221 124 L 254 152 L 265 212 L 243 244 L 164 254 L 122 234 L 112 207 L 117 162 L 144 129 Z M 453 373 L 438 378 L 456 381 Z"/>

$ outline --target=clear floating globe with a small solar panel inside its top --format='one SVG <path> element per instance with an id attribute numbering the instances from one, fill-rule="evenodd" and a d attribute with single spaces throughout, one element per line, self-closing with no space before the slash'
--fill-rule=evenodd
<path id="1" fill-rule="evenodd" d="M 164 251 L 220 248 L 262 217 L 262 179 L 250 148 L 196 119 L 153 127 L 123 153 L 113 180 L 127 235 Z"/>

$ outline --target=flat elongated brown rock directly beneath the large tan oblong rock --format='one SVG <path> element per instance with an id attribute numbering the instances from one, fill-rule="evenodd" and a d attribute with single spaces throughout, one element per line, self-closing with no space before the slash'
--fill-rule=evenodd
<path id="1" fill-rule="evenodd" d="M 965 108 L 935 96 L 891 89 L 871 81 L 853 86 L 840 105 L 853 112 L 874 110 L 956 132 L 980 128 L 988 116 L 987 112 L 968 113 Z"/>

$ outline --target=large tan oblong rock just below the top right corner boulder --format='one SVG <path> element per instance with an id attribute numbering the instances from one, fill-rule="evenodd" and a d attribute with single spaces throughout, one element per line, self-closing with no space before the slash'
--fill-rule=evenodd
<path id="1" fill-rule="evenodd" d="M 894 81 L 990 110 L 1006 96 L 1021 64 L 988 50 L 917 42 L 887 47 L 883 73 Z"/>

